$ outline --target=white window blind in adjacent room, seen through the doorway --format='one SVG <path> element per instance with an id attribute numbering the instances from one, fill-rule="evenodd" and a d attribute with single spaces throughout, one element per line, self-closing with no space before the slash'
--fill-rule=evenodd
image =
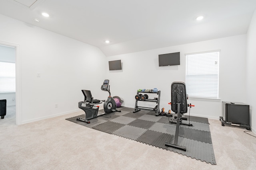
<path id="1" fill-rule="evenodd" d="M 0 62 L 0 93 L 15 91 L 15 63 Z"/>

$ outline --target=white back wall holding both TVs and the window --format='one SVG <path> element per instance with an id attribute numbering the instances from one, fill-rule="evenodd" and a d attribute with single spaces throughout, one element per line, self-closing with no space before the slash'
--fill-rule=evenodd
<path id="1" fill-rule="evenodd" d="M 107 77 L 112 86 L 112 96 L 124 99 L 122 106 L 134 107 L 138 89 L 161 90 L 160 107 L 170 109 L 170 86 L 174 81 L 186 81 L 186 53 L 220 51 L 219 98 L 221 101 L 246 102 L 246 35 L 213 39 L 138 53 L 107 57 L 108 61 L 121 59 L 122 70 L 109 71 Z M 158 55 L 180 52 L 179 66 L 158 66 Z M 106 64 L 108 66 L 108 64 Z M 188 100 L 194 104 L 191 115 L 219 118 L 221 102 Z M 156 105 L 156 104 L 151 104 Z M 142 106 L 142 105 L 140 105 Z M 152 106 L 152 107 L 154 107 Z"/>

